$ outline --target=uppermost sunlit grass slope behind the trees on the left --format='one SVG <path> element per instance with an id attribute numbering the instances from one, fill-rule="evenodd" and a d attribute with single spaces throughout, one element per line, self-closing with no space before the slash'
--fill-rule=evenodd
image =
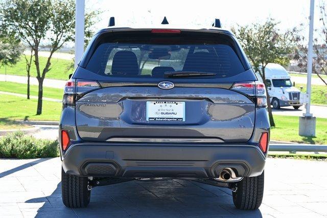
<path id="1" fill-rule="evenodd" d="M 44 68 L 46 57 L 39 57 L 40 60 L 40 68 L 41 70 Z M 58 80 L 68 80 L 69 74 L 73 73 L 73 69 L 67 69 L 69 65 L 72 64 L 72 61 L 59 59 L 59 58 L 52 58 L 51 59 L 51 66 L 50 71 L 46 73 L 45 78 L 48 79 L 58 79 Z M 5 74 L 5 67 L 0 68 L 0 74 Z M 24 56 L 21 56 L 17 64 L 13 66 L 7 66 L 7 74 L 8 75 L 17 75 L 17 76 L 27 76 L 26 72 L 26 60 Z M 34 61 L 32 62 L 31 67 L 31 76 L 36 77 L 36 68 Z"/>

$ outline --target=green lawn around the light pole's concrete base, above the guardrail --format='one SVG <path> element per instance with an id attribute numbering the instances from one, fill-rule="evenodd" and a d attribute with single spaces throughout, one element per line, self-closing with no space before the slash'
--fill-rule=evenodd
<path id="1" fill-rule="evenodd" d="M 327 144 L 327 119 L 316 118 L 316 137 L 298 135 L 298 117 L 274 115 L 276 127 L 271 128 L 270 139 L 297 143 Z"/>

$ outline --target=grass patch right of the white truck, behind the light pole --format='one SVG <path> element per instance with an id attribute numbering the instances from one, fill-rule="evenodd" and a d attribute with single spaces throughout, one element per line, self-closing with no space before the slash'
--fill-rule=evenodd
<path id="1" fill-rule="evenodd" d="M 295 84 L 295 87 L 297 87 L 298 89 L 300 89 L 300 87 L 303 87 L 302 92 L 307 91 L 306 84 Z M 327 105 L 327 86 L 311 86 L 311 104 Z"/>

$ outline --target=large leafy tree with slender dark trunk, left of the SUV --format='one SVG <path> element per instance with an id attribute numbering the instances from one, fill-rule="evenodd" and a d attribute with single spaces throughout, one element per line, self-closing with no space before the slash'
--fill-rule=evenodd
<path id="1" fill-rule="evenodd" d="M 92 13 L 86 13 L 91 17 Z M 87 20 L 86 21 L 86 27 Z M 51 69 L 51 58 L 66 42 L 75 38 L 74 0 L 4 0 L 0 6 L 1 27 L 28 44 L 34 53 L 38 80 L 36 114 L 42 113 L 43 81 Z M 89 30 L 85 31 L 86 33 Z M 50 48 L 44 66 L 40 66 L 40 46 Z"/>

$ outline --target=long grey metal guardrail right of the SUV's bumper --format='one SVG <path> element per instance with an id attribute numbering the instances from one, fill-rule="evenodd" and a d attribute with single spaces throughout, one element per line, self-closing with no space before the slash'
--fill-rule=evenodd
<path id="1" fill-rule="evenodd" d="M 327 145 L 270 144 L 270 152 L 327 152 Z"/>

